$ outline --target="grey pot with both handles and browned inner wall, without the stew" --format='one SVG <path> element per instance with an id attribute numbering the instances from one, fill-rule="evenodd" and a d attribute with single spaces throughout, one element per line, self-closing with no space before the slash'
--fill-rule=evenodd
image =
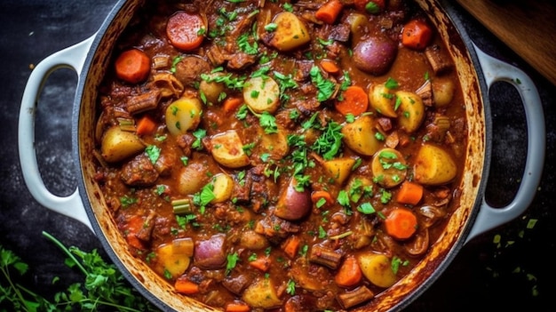
<path id="1" fill-rule="evenodd" d="M 455 60 L 464 91 L 469 144 L 466 150 L 464 177 L 459 185 L 461 202 L 451 215 L 439 240 L 431 246 L 425 260 L 412 272 L 376 300 L 354 311 L 394 311 L 405 308 L 448 268 L 457 252 L 473 237 L 496 228 L 523 213 L 536 194 L 544 164 L 544 114 L 536 87 L 520 69 L 481 52 L 465 35 L 461 23 L 453 19 L 448 1 L 416 0 L 428 13 Z M 68 215 L 87 225 L 99 237 L 110 259 L 130 283 L 157 307 L 173 311 L 212 311 L 186 296 L 176 295 L 173 287 L 157 276 L 145 263 L 128 252 L 99 186 L 93 179 L 95 168 L 91 151 L 95 148 L 97 88 L 107 69 L 108 60 L 118 36 L 126 28 L 141 0 L 121 0 L 109 13 L 99 31 L 65 50 L 41 61 L 29 76 L 20 108 L 20 163 L 26 184 L 36 201 L 55 212 Z M 45 188 L 36 162 L 34 149 L 34 115 L 41 86 L 53 70 L 73 68 L 78 74 L 72 124 L 72 144 L 78 188 L 70 196 L 53 195 Z M 488 88 L 503 81 L 514 85 L 526 113 L 528 124 L 528 156 L 520 188 L 512 203 L 502 208 L 484 200 L 488 183 L 492 133 Z"/>

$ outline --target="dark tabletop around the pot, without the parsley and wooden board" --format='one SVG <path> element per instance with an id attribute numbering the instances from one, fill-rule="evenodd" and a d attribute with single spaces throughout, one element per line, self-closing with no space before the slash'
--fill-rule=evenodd
<path id="1" fill-rule="evenodd" d="M 64 265 L 64 254 L 42 236 L 42 231 L 83 251 L 96 248 L 108 258 L 88 228 L 47 210 L 28 192 L 17 148 L 20 100 L 31 65 L 93 35 L 115 2 L 4 0 L 0 9 L 0 244 L 29 264 L 30 270 L 20 282 L 49 300 L 55 292 L 66 290 L 68 284 L 83 282 L 83 276 Z M 544 175 L 527 212 L 466 244 L 436 283 L 406 310 L 546 310 L 541 307 L 554 306 L 551 296 L 556 290 L 556 263 L 552 258 L 556 251 L 556 207 L 552 202 L 556 190 L 555 86 L 454 5 L 457 17 L 464 21 L 475 44 L 523 69 L 536 83 L 547 130 Z M 542 32 L 542 25 L 538 29 Z M 45 84 L 36 112 L 39 167 L 47 187 L 59 196 L 68 196 L 76 187 L 71 152 L 76 83 L 75 72 L 69 69 L 54 72 Z M 490 102 L 494 145 L 487 200 L 502 206 L 512 200 L 519 187 L 527 152 L 527 130 L 520 97 L 511 86 L 495 84 L 490 90 Z M 527 228 L 529 220 L 537 220 L 534 228 Z M 496 235 L 501 238 L 499 244 L 494 243 Z M 54 276 L 60 276 L 57 284 L 52 284 Z"/>

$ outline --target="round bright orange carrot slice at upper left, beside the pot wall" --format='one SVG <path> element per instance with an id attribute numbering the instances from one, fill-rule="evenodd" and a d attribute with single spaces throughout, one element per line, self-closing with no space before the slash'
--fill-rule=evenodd
<path id="1" fill-rule="evenodd" d="M 147 79 L 151 60 L 145 52 L 131 49 L 122 52 L 115 60 L 115 75 L 130 84 L 139 84 Z"/>

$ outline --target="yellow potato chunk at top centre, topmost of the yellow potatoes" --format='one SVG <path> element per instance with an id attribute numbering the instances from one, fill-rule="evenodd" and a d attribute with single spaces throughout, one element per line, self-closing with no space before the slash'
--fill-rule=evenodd
<path id="1" fill-rule="evenodd" d="M 274 17 L 276 24 L 270 45 L 280 51 L 290 51 L 311 41 L 303 21 L 292 12 L 280 12 Z"/>

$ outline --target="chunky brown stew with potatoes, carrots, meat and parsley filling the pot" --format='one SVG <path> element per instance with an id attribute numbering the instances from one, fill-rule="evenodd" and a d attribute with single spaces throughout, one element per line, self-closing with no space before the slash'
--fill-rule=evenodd
<path id="1" fill-rule="evenodd" d="M 361 306 L 457 208 L 465 105 L 413 2 L 151 1 L 113 54 L 96 179 L 176 296 L 229 312 Z"/>

